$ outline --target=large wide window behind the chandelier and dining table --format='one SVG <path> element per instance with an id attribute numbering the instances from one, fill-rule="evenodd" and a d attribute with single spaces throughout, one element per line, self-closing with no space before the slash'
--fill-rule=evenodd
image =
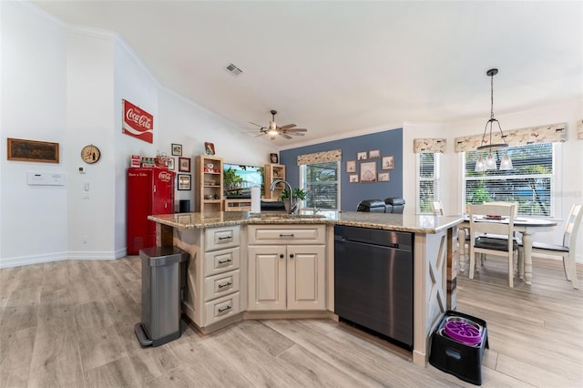
<path id="1" fill-rule="evenodd" d="M 526 216 L 552 215 L 554 201 L 554 147 L 552 143 L 537 143 L 496 151 L 499 166 L 504 152 L 512 158 L 513 169 L 476 172 L 476 158 L 484 151 L 465 153 L 465 203 L 483 201 L 516 201 L 518 214 Z"/>

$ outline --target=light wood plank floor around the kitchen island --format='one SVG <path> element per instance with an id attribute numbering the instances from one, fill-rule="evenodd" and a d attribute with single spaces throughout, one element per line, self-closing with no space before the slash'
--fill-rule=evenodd
<path id="1" fill-rule="evenodd" d="M 474 281 L 458 278 L 457 310 L 487 322 L 483 386 L 583 386 L 583 292 L 558 261 L 535 259 L 532 286 L 509 289 L 505 271 L 489 258 Z M 142 349 L 140 273 L 137 256 L 0 270 L 0 386 L 474 386 L 332 320 L 189 327 Z"/>

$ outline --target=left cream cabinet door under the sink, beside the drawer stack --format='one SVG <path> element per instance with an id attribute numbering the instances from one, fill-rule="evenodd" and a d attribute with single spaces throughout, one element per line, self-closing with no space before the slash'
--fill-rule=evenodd
<path id="1" fill-rule="evenodd" d="M 250 246 L 249 311 L 286 309 L 285 246 Z"/>

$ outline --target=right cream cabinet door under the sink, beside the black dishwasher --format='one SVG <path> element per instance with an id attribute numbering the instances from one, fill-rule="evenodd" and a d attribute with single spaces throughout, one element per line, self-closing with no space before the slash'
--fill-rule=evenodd
<path id="1" fill-rule="evenodd" d="M 325 310 L 325 258 L 323 245 L 287 246 L 287 310 Z"/>

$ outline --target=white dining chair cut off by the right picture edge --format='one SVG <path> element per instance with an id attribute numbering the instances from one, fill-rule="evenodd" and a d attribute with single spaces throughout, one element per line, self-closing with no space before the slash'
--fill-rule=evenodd
<path id="1" fill-rule="evenodd" d="M 532 254 L 537 253 L 560 256 L 563 259 L 563 268 L 565 277 L 571 282 L 574 289 L 578 289 L 577 268 L 575 263 L 575 247 L 577 244 L 577 232 L 583 220 L 583 205 L 575 204 L 571 207 L 568 215 L 565 231 L 563 233 L 563 243 L 561 245 L 547 244 L 544 242 L 533 241 Z"/>

